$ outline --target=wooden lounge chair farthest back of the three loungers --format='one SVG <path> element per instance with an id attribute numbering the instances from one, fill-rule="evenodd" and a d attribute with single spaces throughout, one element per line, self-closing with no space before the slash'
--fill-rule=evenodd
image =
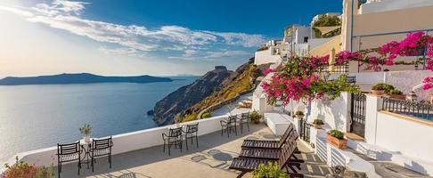
<path id="1" fill-rule="evenodd" d="M 296 132 L 294 126 L 290 124 L 284 134 L 282 134 L 282 138 L 280 141 L 266 141 L 266 140 L 244 140 L 242 142 L 242 148 L 262 148 L 262 149 L 277 149 L 281 150 L 282 145 L 286 142 L 289 134 L 291 132 Z"/>

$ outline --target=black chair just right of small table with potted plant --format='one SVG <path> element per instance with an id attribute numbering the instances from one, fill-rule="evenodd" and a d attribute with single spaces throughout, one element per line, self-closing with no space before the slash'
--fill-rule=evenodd
<path id="1" fill-rule="evenodd" d="M 94 172 L 94 163 L 96 158 L 108 156 L 111 168 L 111 148 L 113 147 L 112 138 L 94 139 L 90 148 L 90 158 L 92 158 L 92 172 Z"/>

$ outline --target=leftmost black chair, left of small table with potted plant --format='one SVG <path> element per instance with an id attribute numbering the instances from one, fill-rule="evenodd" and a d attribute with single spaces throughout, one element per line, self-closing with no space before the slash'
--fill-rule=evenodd
<path id="1" fill-rule="evenodd" d="M 71 161 L 78 161 L 78 175 L 79 169 L 81 168 L 81 152 L 79 141 L 68 144 L 57 143 L 57 169 L 59 171 L 59 178 L 61 174 L 61 163 L 67 163 Z"/>

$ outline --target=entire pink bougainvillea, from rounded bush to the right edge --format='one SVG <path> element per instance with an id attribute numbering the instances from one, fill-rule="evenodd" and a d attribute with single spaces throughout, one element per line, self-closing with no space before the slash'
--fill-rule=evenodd
<path id="1" fill-rule="evenodd" d="M 417 64 L 419 61 L 394 61 L 396 57 L 415 56 L 425 54 L 423 59 L 426 69 L 433 70 L 433 36 L 423 32 L 408 34 L 400 42 L 392 41 L 379 48 L 363 50 L 360 52 L 342 51 L 335 56 L 335 63 L 329 64 L 330 56 L 323 57 L 291 57 L 279 69 L 268 69 L 266 74 L 273 72 L 273 77 L 264 82 L 263 87 L 270 104 L 282 100 L 286 105 L 290 100 L 311 101 L 320 99 L 324 95 L 331 100 L 339 97 L 342 91 L 349 93 L 359 92 L 354 85 L 347 85 L 346 76 L 330 80 L 330 74 L 321 72 L 321 69 L 332 65 L 343 65 L 350 61 L 358 61 L 365 69 L 380 71 L 383 65 Z M 423 89 L 433 87 L 433 77 L 422 81 Z"/>

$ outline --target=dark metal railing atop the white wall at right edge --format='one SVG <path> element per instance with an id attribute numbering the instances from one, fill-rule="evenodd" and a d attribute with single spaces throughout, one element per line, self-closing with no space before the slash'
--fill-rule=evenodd
<path id="1" fill-rule="evenodd" d="M 396 114 L 419 117 L 433 121 L 433 105 L 383 97 L 382 109 Z"/>

